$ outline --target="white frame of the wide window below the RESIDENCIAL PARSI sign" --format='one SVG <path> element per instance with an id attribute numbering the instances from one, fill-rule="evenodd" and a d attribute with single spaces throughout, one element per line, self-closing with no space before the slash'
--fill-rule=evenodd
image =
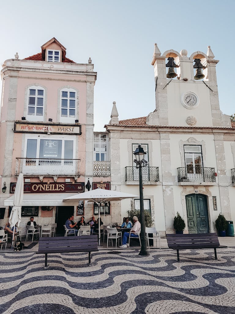
<path id="1" fill-rule="evenodd" d="M 24 158 L 26 158 L 26 153 L 27 153 L 27 142 L 28 139 L 36 139 L 37 140 L 37 152 L 36 152 L 36 157 L 39 158 L 39 152 L 40 152 L 40 140 L 62 140 L 62 147 L 61 147 L 61 158 L 57 159 L 64 159 L 64 153 L 65 153 L 65 141 L 73 141 L 73 159 L 76 159 L 76 136 L 70 135 L 67 137 L 61 137 L 60 135 L 53 135 L 53 136 L 44 136 L 40 134 L 40 137 L 38 135 L 27 135 L 25 136 L 25 144 L 24 144 Z M 33 158 L 31 158 L 33 159 Z"/>

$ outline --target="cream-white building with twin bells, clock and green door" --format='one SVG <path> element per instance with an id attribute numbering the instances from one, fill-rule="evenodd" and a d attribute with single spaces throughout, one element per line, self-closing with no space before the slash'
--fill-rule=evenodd
<path id="1" fill-rule="evenodd" d="M 185 233 L 214 232 L 220 212 L 235 219 L 235 125 L 220 111 L 218 60 L 210 46 L 207 53 L 187 54 L 161 54 L 155 44 L 155 110 L 119 121 L 114 103 L 106 125 L 111 189 L 138 194 L 133 152 L 140 143 L 149 162 L 142 170 L 144 208 L 162 235 L 175 232 L 177 212 L 185 220 Z M 130 209 L 139 209 L 138 199 L 116 205 L 122 217 Z"/>

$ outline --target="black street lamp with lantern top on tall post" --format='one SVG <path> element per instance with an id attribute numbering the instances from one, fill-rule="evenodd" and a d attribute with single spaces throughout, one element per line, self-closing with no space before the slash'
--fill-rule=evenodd
<path id="1" fill-rule="evenodd" d="M 148 161 L 144 160 L 144 155 L 146 154 L 144 149 L 139 144 L 137 149 L 133 153 L 136 157 L 134 163 L 136 168 L 139 168 L 139 203 L 140 203 L 140 242 L 141 249 L 139 255 L 149 255 L 146 246 L 146 236 L 145 236 L 145 220 L 144 220 L 144 198 L 143 198 L 143 182 L 142 182 L 142 167 L 148 166 Z"/>

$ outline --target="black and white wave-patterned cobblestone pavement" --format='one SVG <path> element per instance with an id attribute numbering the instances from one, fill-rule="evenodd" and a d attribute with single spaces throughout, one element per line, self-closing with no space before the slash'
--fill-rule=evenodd
<path id="1" fill-rule="evenodd" d="M 235 249 L 0 254 L 1 314 L 234 314 Z"/>

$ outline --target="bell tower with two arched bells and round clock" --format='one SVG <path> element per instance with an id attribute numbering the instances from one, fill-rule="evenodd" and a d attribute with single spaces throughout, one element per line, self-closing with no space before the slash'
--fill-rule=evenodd
<path id="1" fill-rule="evenodd" d="M 147 116 L 149 125 L 231 127 L 229 116 L 219 107 L 216 65 L 211 47 L 206 54 L 167 50 L 157 44 L 154 66 L 156 109 Z"/>

